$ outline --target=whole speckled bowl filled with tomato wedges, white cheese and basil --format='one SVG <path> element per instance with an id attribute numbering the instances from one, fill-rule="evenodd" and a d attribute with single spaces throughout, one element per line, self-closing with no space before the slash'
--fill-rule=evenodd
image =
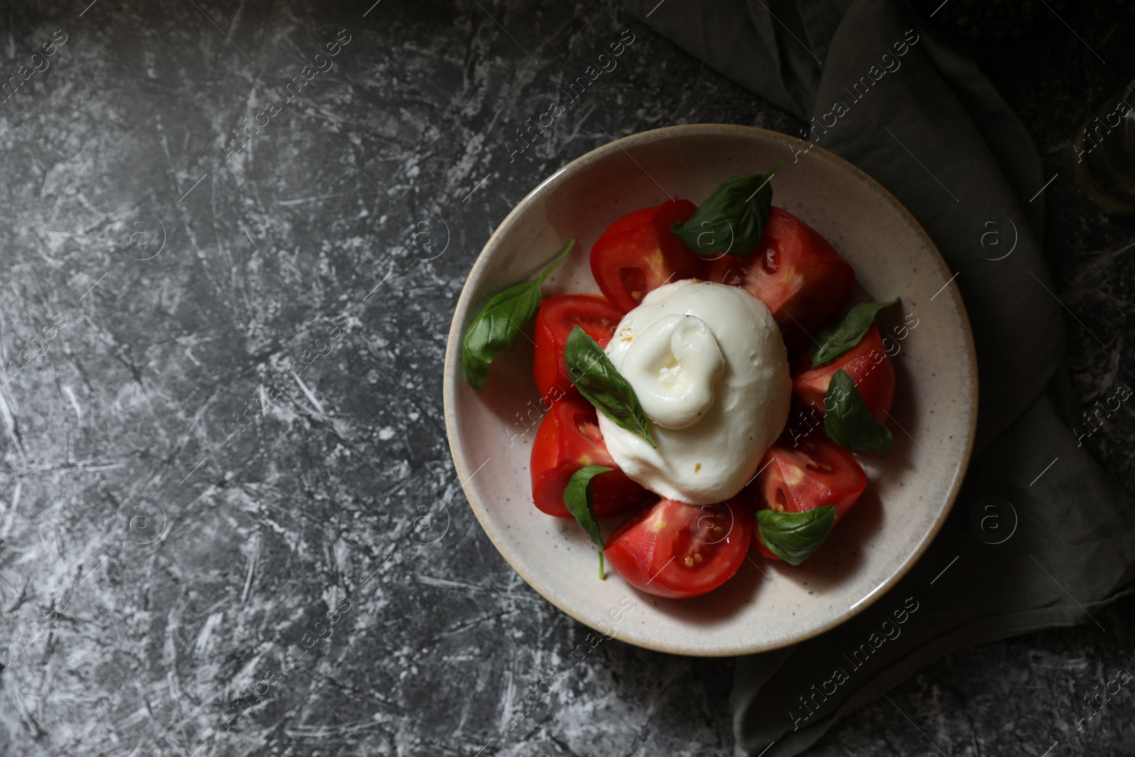
<path id="1" fill-rule="evenodd" d="M 799 641 L 948 513 L 976 415 L 965 310 L 909 213 L 833 155 L 745 127 L 620 142 L 526 197 L 470 276 L 457 472 L 502 554 L 592 628 L 682 654 Z"/>

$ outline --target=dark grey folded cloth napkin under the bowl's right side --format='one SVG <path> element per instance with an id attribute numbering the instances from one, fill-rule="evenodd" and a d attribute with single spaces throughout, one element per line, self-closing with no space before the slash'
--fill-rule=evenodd
<path id="1" fill-rule="evenodd" d="M 919 35 L 893 0 L 627 6 L 799 116 L 805 136 L 893 193 L 958 272 L 977 347 L 975 456 L 947 524 L 851 621 L 737 661 L 737 754 L 797 755 L 953 650 L 1092 623 L 1135 580 L 1135 507 L 1071 430 L 1061 306 L 1041 246 L 1043 197 L 1028 202 L 1043 178 L 1020 120 L 974 61 Z M 1007 251 L 1012 226 L 1011 254 L 992 260 L 1003 254 L 992 247 L 997 235 L 983 249 L 982 234 L 998 232 Z M 1112 397 L 1126 398 L 1127 387 Z"/>

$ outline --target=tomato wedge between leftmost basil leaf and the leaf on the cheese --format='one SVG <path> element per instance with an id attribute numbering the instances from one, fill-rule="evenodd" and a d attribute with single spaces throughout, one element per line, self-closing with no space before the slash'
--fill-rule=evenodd
<path id="1" fill-rule="evenodd" d="M 536 317 L 532 375 L 545 404 L 579 393 L 568 376 L 568 363 L 564 362 L 564 347 L 572 328 L 581 327 L 600 347 L 606 347 L 621 319 L 622 313 L 611 303 L 590 294 L 564 294 L 540 303 L 540 312 Z"/>

